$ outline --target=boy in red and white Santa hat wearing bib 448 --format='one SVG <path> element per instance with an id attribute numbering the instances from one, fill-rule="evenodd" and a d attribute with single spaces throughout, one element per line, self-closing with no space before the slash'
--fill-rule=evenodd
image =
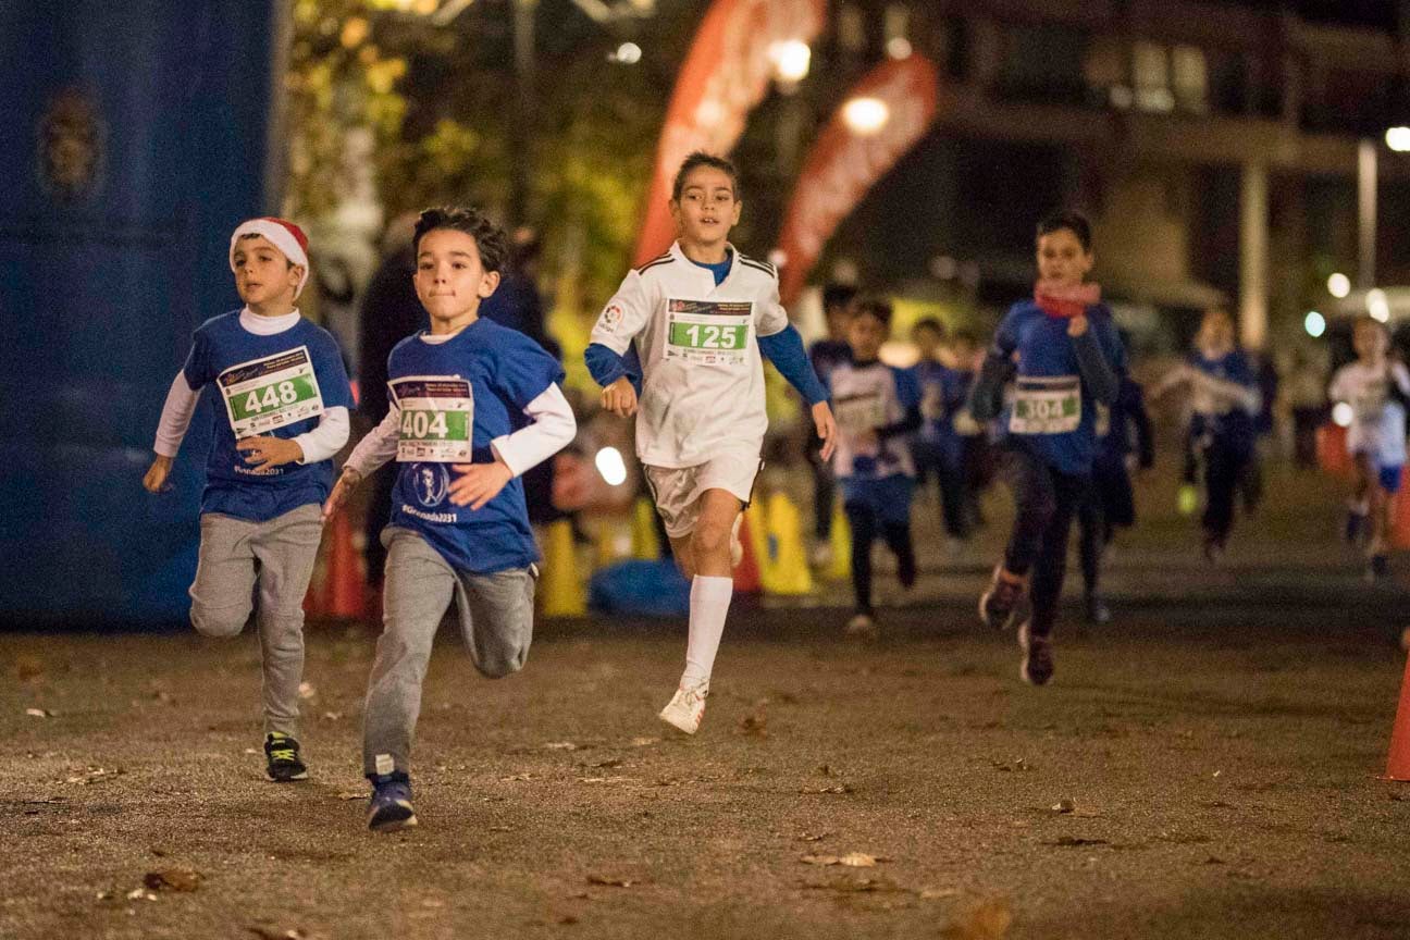
<path id="1" fill-rule="evenodd" d="M 309 280 L 307 248 L 282 218 L 235 228 L 230 269 L 245 306 L 196 330 L 142 478 L 148 492 L 166 489 L 200 393 L 213 388 L 220 403 L 210 410 L 190 623 L 207 637 L 234 637 L 258 607 L 265 774 L 275 782 L 309 777 L 298 740 L 303 596 L 323 537 L 319 505 L 352 406 L 337 341 L 293 306 Z"/>

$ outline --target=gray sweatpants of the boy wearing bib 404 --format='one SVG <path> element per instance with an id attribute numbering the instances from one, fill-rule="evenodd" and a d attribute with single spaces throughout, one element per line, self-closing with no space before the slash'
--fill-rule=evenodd
<path id="1" fill-rule="evenodd" d="M 455 571 L 409 528 L 382 531 L 386 581 L 384 627 L 367 684 L 362 713 L 362 769 L 409 774 L 422 681 L 431 640 L 455 602 L 470 658 L 491 679 L 517 672 L 533 641 L 533 589 L 537 569 L 510 568 L 492 575 Z"/>

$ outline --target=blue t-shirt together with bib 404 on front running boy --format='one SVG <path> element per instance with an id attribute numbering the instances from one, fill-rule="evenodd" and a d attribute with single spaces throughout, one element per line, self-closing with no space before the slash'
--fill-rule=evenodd
<path id="1" fill-rule="evenodd" d="M 563 381 L 558 362 L 522 333 L 475 320 L 444 342 L 402 340 L 386 376 L 400 420 L 391 524 L 419 533 L 457 571 L 537 561 L 523 481 L 472 510 L 450 502 L 451 465 L 492 464 L 491 441 L 522 427 L 529 403 Z"/>

